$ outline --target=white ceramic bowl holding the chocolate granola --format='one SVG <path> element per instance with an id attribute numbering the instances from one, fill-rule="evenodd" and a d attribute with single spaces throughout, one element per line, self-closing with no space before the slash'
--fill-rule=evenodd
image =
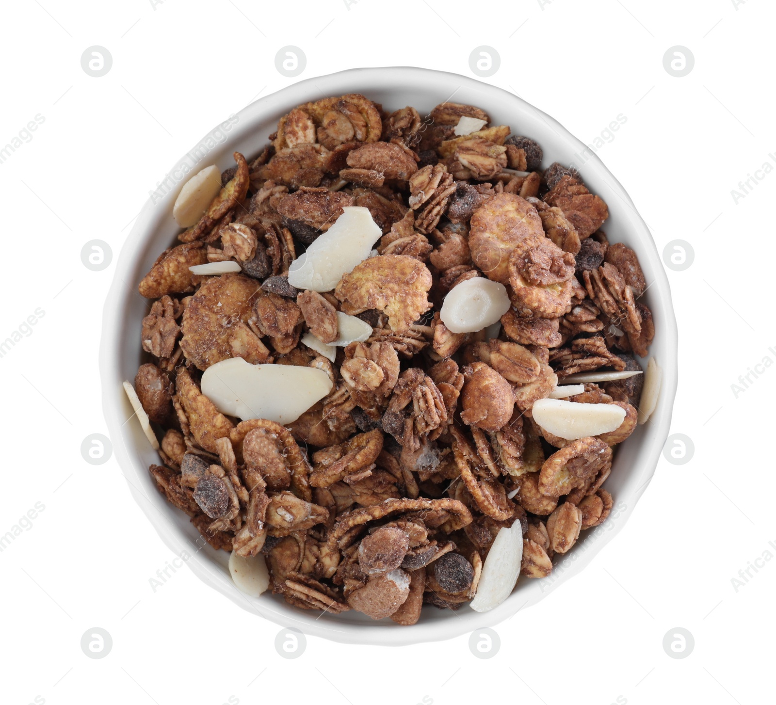
<path id="1" fill-rule="evenodd" d="M 283 627 L 296 627 L 307 634 L 333 641 L 379 645 L 438 641 L 492 626 L 517 610 L 539 602 L 566 579 L 580 572 L 622 529 L 655 471 L 670 427 L 677 387 L 677 325 L 668 279 L 650 231 L 622 186 L 601 160 L 592 156 L 581 166 L 581 174 L 585 184 L 609 207 L 609 219 L 605 223 L 609 240 L 628 244 L 639 256 L 646 281 L 650 283 L 645 299 L 652 309 L 655 323 L 655 340 L 650 353 L 663 368 L 663 387 L 655 413 L 649 423 L 639 427 L 628 441 L 618 447 L 615 454 L 614 468 L 606 482 L 606 489 L 615 500 L 611 516 L 601 527 L 582 533 L 577 545 L 556 561 L 553 575 L 542 580 L 521 578 L 509 599 L 487 613 L 474 612 L 468 606 L 456 613 L 429 606 L 424 607 L 421 620 L 413 627 L 400 627 L 387 619 L 379 622 L 370 620 L 355 611 L 334 616 L 298 610 L 281 597 L 268 593 L 258 599 L 244 596 L 230 579 L 227 568 L 229 554 L 203 546 L 204 542 L 189 523 L 189 517 L 168 504 L 155 489 L 148 465 L 158 463 L 158 455 L 151 449 L 139 423 L 125 423 L 132 410 L 121 383 L 124 379 L 132 380 L 140 365 L 140 321 L 148 308 L 147 302 L 137 293 L 137 283 L 161 251 L 175 242 L 178 226 L 172 218 L 172 205 L 188 178 L 182 175 L 180 164 L 187 164 L 188 175 L 192 175 L 208 164 L 217 164 L 220 169 L 231 166 L 234 150 L 250 160 L 268 142 L 267 137 L 275 131 L 279 117 L 289 109 L 323 95 L 353 92 L 381 102 L 389 111 L 414 105 L 421 114 L 425 114 L 445 100 L 477 105 L 488 112 L 494 125 L 509 125 L 513 134 L 537 140 L 544 150 L 545 167 L 553 161 L 561 164 L 577 161 L 574 154 L 580 154 L 585 147 L 553 118 L 501 88 L 472 78 L 422 68 L 341 71 L 300 81 L 251 103 L 237 114 L 236 120 L 232 119 L 228 131 L 223 127 L 211 130 L 210 144 L 215 146 L 207 154 L 203 154 L 208 149 L 205 138 L 199 143 L 199 154 L 192 150 L 171 169 L 168 181 L 171 190 L 163 198 L 156 199 L 155 203 L 149 199 L 122 248 L 102 319 L 102 406 L 116 458 L 137 503 L 172 551 L 178 555 L 183 553 L 185 556 L 186 552 L 191 555 L 187 565 L 207 585 L 249 612 L 260 614 Z M 199 158 L 199 161 L 195 163 L 194 158 Z M 174 181 L 177 183 L 173 185 Z M 265 628 L 273 631 L 269 624 Z"/>

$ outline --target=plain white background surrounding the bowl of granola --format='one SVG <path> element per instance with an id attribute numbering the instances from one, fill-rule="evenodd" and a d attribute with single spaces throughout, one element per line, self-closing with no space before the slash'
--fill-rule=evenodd
<path id="1" fill-rule="evenodd" d="M 774 15 L 764 0 L 5 5 L 0 145 L 36 114 L 45 121 L 0 164 L 0 339 L 36 308 L 45 315 L 0 358 L 0 534 L 36 502 L 45 509 L 0 553 L 2 702 L 771 700 L 776 561 L 750 569 L 737 590 L 731 579 L 764 551 L 776 555 L 776 369 L 750 377 L 737 398 L 731 385 L 765 356 L 776 361 L 776 175 L 737 204 L 731 190 L 776 165 Z M 501 650 L 488 660 L 467 637 L 400 649 L 308 638 L 300 658 L 281 658 L 275 624 L 187 568 L 154 592 L 149 579 L 175 556 L 115 459 L 81 458 L 81 441 L 106 433 L 96 361 L 113 275 L 113 265 L 85 268 L 81 247 L 105 240 L 115 258 L 171 164 L 230 113 L 296 80 L 275 69 L 289 44 L 307 55 L 299 78 L 397 64 L 473 75 L 469 53 L 494 47 L 501 68 L 483 80 L 585 142 L 627 117 L 599 156 L 659 251 L 677 239 L 695 251 L 690 268 L 669 271 L 681 338 L 672 433 L 691 437 L 694 457 L 661 458 L 618 537 L 582 575 L 496 627 Z M 81 69 L 92 45 L 113 56 L 102 78 Z M 663 68 L 674 45 L 695 56 L 684 78 Z M 81 651 L 91 627 L 113 638 L 106 658 Z M 695 638 L 688 658 L 663 651 L 674 627 Z"/>

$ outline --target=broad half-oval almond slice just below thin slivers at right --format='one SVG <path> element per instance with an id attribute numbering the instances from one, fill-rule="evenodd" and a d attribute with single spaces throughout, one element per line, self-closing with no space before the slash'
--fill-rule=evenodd
<path id="1" fill-rule="evenodd" d="M 532 407 L 533 419 L 553 436 L 577 438 L 608 434 L 620 427 L 625 409 L 616 404 L 580 404 L 565 399 L 539 399 Z"/>

